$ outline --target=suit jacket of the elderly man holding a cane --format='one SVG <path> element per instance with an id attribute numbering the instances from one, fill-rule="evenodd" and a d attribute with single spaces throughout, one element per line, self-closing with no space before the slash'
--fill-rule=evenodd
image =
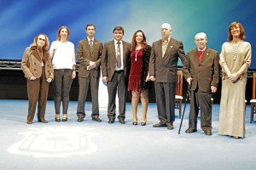
<path id="1" fill-rule="evenodd" d="M 197 86 L 202 92 L 211 91 L 211 86 L 218 88 L 218 51 L 211 48 L 207 48 L 203 54 L 200 63 L 198 58 L 198 51 L 195 48 L 189 51 L 189 53 L 187 54 L 187 58 L 189 59 L 190 74 L 189 76 L 186 75 L 185 78 L 193 78 L 191 90 L 195 90 Z"/>

